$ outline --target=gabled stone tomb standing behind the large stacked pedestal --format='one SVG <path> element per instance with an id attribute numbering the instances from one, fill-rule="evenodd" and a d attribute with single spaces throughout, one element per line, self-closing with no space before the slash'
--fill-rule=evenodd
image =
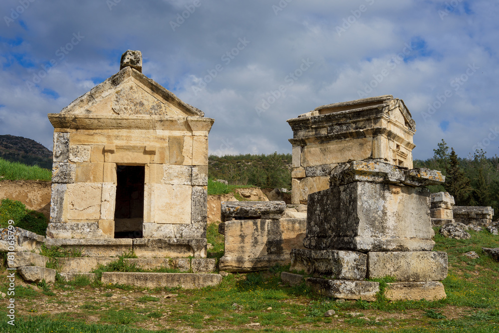
<path id="1" fill-rule="evenodd" d="M 293 130 L 293 204 L 328 189 L 338 163 L 381 159 L 413 167 L 415 122 L 404 101 L 391 95 L 319 106 L 287 122 Z"/>

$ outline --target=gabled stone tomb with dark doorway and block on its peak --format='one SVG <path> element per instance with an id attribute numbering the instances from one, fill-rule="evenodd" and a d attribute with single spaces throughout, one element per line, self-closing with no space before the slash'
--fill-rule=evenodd
<path id="1" fill-rule="evenodd" d="M 206 257 L 214 119 L 142 74 L 140 51 L 125 52 L 117 74 L 48 118 L 51 245 L 93 244 L 94 255 L 107 245 L 119 255 L 133 239 L 139 257 Z"/>

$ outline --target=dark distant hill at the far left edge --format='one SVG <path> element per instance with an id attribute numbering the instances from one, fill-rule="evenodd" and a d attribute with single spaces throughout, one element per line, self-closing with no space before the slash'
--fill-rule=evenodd
<path id="1" fill-rule="evenodd" d="M 52 151 L 22 136 L 0 135 L 0 157 L 11 162 L 52 169 Z"/>

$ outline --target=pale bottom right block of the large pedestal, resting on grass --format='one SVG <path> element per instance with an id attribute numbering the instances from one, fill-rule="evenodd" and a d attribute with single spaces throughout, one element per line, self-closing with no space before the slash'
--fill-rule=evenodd
<path id="1" fill-rule="evenodd" d="M 388 283 L 385 297 L 391 301 L 438 301 L 447 297 L 438 281 Z"/>

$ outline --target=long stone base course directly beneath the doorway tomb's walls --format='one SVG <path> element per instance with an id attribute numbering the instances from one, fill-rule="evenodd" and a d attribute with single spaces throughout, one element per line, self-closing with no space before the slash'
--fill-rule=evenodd
<path id="1" fill-rule="evenodd" d="M 45 245 L 81 249 L 86 257 L 118 257 L 133 251 L 139 258 L 206 258 L 204 238 L 47 238 Z"/>

